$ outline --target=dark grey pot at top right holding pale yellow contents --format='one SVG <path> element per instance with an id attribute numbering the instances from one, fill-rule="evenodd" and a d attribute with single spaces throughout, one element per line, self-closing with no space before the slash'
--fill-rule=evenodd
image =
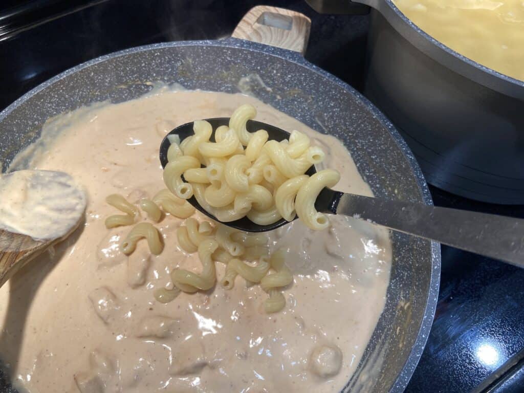
<path id="1" fill-rule="evenodd" d="M 400 130 L 429 183 L 466 198 L 524 203 L 523 81 L 447 48 L 391 0 L 308 3 L 331 13 L 372 7 L 364 93 Z"/>

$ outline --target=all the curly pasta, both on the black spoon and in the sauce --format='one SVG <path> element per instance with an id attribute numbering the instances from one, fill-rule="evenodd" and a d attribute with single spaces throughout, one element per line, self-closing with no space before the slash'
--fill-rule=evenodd
<path id="1" fill-rule="evenodd" d="M 298 216 L 315 230 L 329 226 L 328 218 L 316 211 L 314 204 L 324 187 L 333 187 L 339 181 L 340 174 L 330 169 L 311 177 L 304 174 L 311 165 L 324 160 L 322 149 L 311 146 L 310 138 L 297 130 L 292 131 L 289 140 L 282 141 L 268 140 L 263 129 L 250 133 L 246 125 L 255 116 L 252 105 L 237 108 L 229 125 L 215 130 L 214 141 L 212 126 L 206 121 L 195 121 L 194 135 L 182 141 L 170 137 L 168 163 L 163 171 L 167 189 L 137 202 L 150 222 L 136 224 L 119 247 L 129 255 L 145 238 L 151 254 L 160 254 L 162 235 L 151 222 L 176 216 L 187 219 L 177 228 L 178 246 L 186 253 L 198 253 L 202 269 L 198 274 L 172 270 L 170 287 L 154 290 L 157 301 L 170 302 L 181 291 L 211 289 L 217 281 L 215 263 L 219 262 L 226 265 L 225 275 L 219 280 L 225 289 L 233 288 L 236 276 L 241 276 L 248 283 L 260 283 L 268 293 L 264 302 L 267 313 L 285 307 L 282 289 L 293 280 L 285 265 L 286 253 L 278 250 L 270 255 L 265 234 L 198 222 L 191 217 L 195 209 L 187 201 L 192 196 L 221 222 L 247 217 L 259 225 L 269 225 Z M 107 217 L 108 228 L 135 224 L 140 215 L 138 207 L 122 195 L 108 196 L 107 203 L 125 213 Z"/>

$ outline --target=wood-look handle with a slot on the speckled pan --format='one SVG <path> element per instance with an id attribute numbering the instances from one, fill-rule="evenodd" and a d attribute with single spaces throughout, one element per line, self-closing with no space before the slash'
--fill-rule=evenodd
<path id="1" fill-rule="evenodd" d="M 259 5 L 239 21 L 232 37 L 305 53 L 311 19 L 289 9 Z"/>

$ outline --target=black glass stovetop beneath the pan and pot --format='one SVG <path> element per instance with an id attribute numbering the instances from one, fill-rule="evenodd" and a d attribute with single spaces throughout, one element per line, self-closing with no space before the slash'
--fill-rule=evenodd
<path id="1" fill-rule="evenodd" d="M 344 0 L 340 0 L 344 1 Z M 83 61 L 147 43 L 231 34 L 253 0 L 4 0 L 0 110 Z M 316 14 L 302 0 L 264 1 L 312 19 L 305 57 L 361 90 L 367 16 Z M 431 187 L 435 205 L 524 218 Z M 408 393 L 524 392 L 524 270 L 442 246 L 439 301 Z"/>

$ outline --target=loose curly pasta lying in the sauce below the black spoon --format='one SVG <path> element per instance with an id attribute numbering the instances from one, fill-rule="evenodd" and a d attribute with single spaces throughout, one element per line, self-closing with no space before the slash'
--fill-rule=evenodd
<path id="1" fill-rule="evenodd" d="M 107 200 L 126 213 L 138 214 L 137 207 L 122 195 L 110 195 Z M 188 202 L 177 198 L 167 189 L 161 190 L 152 199 L 143 198 L 137 202 L 147 212 L 148 219 L 155 222 L 165 219 L 160 208 L 169 211 L 170 204 L 179 207 L 185 203 Z M 135 225 L 119 247 L 124 254 L 132 254 L 143 238 L 147 240 L 151 254 L 162 252 L 162 236 L 149 222 Z M 185 269 L 171 271 L 170 286 L 156 288 L 152 293 L 158 302 L 169 303 L 180 292 L 194 293 L 212 288 L 217 281 L 215 263 L 223 263 L 226 265 L 225 274 L 219 282 L 225 289 L 232 289 L 236 276 L 241 276 L 248 284 L 260 283 L 269 294 L 264 303 L 266 312 L 277 312 L 285 306 L 286 299 L 281 288 L 289 284 L 292 276 L 283 264 L 285 254 L 281 250 L 270 256 L 269 237 L 266 234 L 242 232 L 222 224 L 212 225 L 209 221 L 198 222 L 189 217 L 178 227 L 177 238 L 182 250 L 189 254 L 198 252 L 202 269 L 199 274 Z M 270 269 L 272 272 L 268 275 Z"/>

